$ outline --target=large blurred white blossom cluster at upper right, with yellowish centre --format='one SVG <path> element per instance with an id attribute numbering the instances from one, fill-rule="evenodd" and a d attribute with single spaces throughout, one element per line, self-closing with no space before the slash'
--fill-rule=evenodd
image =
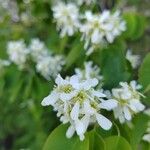
<path id="1" fill-rule="evenodd" d="M 84 48 L 90 55 L 96 48 L 103 47 L 107 43 L 113 43 L 115 38 L 125 31 L 125 21 L 120 12 L 110 13 L 105 10 L 102 14 L 93 14 L 86 11 L 83 16 L 85 23 L 80 26 L 82 40 L 85 40 Z"/>

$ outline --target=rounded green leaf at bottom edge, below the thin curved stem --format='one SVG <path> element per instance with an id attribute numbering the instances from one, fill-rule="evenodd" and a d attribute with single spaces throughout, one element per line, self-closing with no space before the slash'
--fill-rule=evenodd
<path id="1" fill-rule="evenodd" d="M 130 144 L 121 136 L 111 136 L 105 139 L 106 150 L 131 150 Z"/>

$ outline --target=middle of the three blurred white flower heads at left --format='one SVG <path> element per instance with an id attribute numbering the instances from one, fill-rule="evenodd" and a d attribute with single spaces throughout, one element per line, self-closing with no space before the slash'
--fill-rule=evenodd
<path id="1" fill-rule="evenodd" d="M 38 61 L 41 57 L 48 55 L 48 50 L 45 44 L 38 38 L 31 40 L 29 50 L 34 61 Z"/>

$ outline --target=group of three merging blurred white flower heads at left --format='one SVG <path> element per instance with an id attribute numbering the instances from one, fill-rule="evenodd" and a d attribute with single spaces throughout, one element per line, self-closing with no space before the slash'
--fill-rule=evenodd
<path id="1" fill-rule="evenodd" d="M 24 69 L 28 59 L 36 64 L 36 70 L 47 80 L 56 77 L 65 64 L 62 55 L 51 54 L 48 48 L 39 39 L 32 39 L 29 46 L 23 40 L 11 41 L 7 45 L 9 59 Z"/>

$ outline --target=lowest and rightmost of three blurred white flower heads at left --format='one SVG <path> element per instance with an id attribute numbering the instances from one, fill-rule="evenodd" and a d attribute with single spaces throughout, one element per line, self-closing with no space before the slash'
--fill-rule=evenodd
<path id="1" fill-rule="evenodd" d="M 62 70 L 63 65 L 65 64 L 64 58 L 61 55 L 48 55 L 45 57 L 41 57 L 36 64 L 37 72 L 41 73 L 41 75 L 50 80 L 50 77 L 55 78 L 58 73 Z"/>

